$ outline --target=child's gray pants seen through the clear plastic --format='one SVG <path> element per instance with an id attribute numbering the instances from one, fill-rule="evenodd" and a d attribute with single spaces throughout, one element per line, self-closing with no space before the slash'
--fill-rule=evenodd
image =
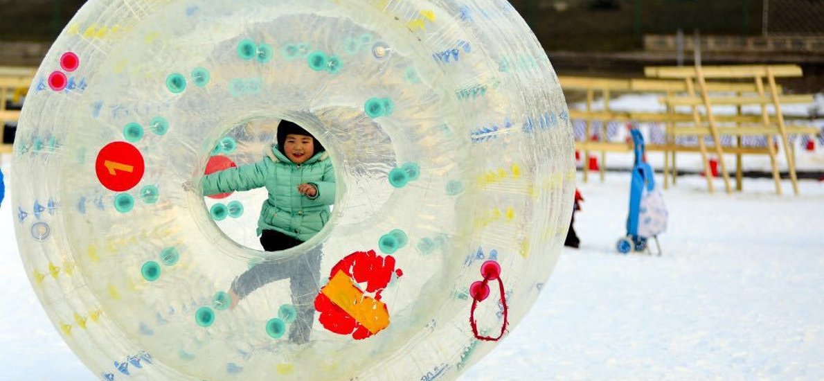
<path id="1" fill-rule="evenodd" d="M 262 262 L 238 276 L 232 282 L 232 291 L 243 299 L 255 289 L 287 278 L 297 312 L 289 327 L 289 341 L 303 344 L 309 341 L 315 321 L 315 297 L 321 284 L 321 247 L 283 261 Z"/>

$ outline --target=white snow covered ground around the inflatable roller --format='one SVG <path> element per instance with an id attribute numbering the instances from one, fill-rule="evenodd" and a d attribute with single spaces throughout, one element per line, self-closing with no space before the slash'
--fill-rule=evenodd
<path id="1" fill-rule="evenodd" d="M 664 194 L 664 255 L 620 256 L 628 176 L 580 186 L 583 247 L 564 251 L 531 312 L 461 380 L 824 378 L 824 182 L 709 195 L 682 177 Z M 94 379 L 35 299 L 7 201 L 0 379 Z"/>

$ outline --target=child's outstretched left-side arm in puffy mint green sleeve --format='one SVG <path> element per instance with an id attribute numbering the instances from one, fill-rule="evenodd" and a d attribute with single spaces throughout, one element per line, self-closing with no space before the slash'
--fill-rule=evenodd
<path id="1" fill-rule="evenodd" d="M 218 195 L 265 186 L 271 163 L 272 159 L 264 158 L 263 161 L 254 164 L 232 167 L 204 176 L 202 182 L 204 195 Z"/>

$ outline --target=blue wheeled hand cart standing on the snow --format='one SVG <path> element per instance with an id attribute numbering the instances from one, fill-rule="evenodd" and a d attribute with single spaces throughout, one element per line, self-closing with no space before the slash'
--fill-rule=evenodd
<path id="1" fill-rule="evenodd" d="M 652 191 L 655 188 L 655 177 L 653 167 L 644 161 L 644 136 L 638 129 L 631 129 L 634 143 L 635 159 L 632 167 L 632 183 L 630 184 L 630 213 L 626 219 L 626 236 L 618 239 L 616 248 L 622 254 L 630 252 L 649 252 L 647 240 L 650 237 L 639 235 L 639 215 L 641 209 L 641 197 L 646 190 Z M 658 247 L 658 255 L 661 255 L 661 245 L 658 243 L 658 236 L 652 237 Z"/>

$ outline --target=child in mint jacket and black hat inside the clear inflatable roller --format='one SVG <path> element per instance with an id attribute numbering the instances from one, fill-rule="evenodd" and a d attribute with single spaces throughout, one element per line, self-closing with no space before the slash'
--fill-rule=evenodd
<path id="1" fill-rule="evenodd" d="M 257 228 L 267 252 L 296 247 L 315 236 L 329 222 L 329 205 L 335 203 L 335 170 L 321 143 L 288 120 L 280 122 L 277 139 L 278 144 L 262 161 L 204 176 L 202 183 L 204 195 L 262 186 L 269 190 Z M 320 248 L 287 260 L 260 263 L 232 282 L 232 308 L 255 289 L 289 278 L 297 310 L 289 340 L 305 343 L 315 319 L 320 271 Z"/>

